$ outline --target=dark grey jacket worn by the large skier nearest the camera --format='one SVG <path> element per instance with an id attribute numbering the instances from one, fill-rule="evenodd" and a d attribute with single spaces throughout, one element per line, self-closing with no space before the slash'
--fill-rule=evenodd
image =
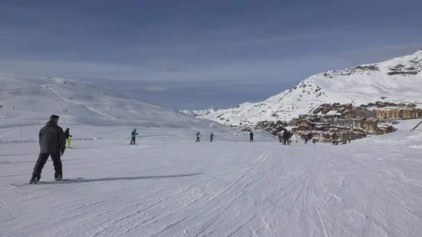
<path id="1" fill-rule="evenodd" d="M 40 130 L 40 153 L 65 152 L 65 132 L 54 121 Z"/>

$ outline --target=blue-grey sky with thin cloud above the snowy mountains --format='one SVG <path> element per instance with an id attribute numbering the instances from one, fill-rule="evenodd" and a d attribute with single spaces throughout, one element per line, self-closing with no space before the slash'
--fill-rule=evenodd
<path id="1" fill-rule="evenodd" d="M 0 72 L 173 109 L 258 101 L 422 49 L 422 1 L 0 1 Z"/>

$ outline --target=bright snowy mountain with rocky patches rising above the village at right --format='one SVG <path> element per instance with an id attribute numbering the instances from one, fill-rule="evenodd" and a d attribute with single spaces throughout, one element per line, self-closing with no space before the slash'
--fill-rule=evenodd
<path id="1" fill-rule="evenodd" d="M 258 103 L 243 103 L 201 116 L 226 125 L 289 121 L 324 103 L 361 105 L 376 101 L 422 106 L 422 49 L 385 62 L 310 76 L 296 87 Z"/>

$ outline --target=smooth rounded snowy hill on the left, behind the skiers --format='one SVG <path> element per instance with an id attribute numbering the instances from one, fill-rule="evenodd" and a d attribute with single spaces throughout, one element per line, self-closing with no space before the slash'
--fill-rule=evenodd
<path id="1" fill-rule="evenodd" d="M 233 132 L 214 121 L 195 119 L 181 112 L 65 78 L 0 74 L 0 105 L 0 129 L 5 129 L 0 134 L 0 141 L 3 142 L 16 141 L 19 135 L 16 128 L 20 125 L 24 128 L 22 136 L 25 140 L 36 139 L 37 130 L 51 114 L 60 115 L 62 126 L 108 126 L 107 130 L 115 132 L 113 136 L 112 132 L 98 128 L 92 130 L 96 132 L 92 137 L 127 137 L 133 128 L 140 128 L 142 132 L 160 130 L 155 132 L 159 134 L 163 134 L 163 131 L 164 134 L 185 132 L 192 137 L 196 131 L 233 135 Z M 110 129 L 115 126 L 128 128 Z"/>

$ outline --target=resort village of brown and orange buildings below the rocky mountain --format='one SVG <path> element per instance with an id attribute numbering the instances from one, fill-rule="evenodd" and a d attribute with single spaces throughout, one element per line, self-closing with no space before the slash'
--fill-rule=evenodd
<path id="1" fill-rule="evenodd" d="M 415 104 L 369 103 L 355 107 L 351 104 L 323 104 L 312 114 L 299 115 L 289 122 L 260 121 L 253 128 L 247 125 L 230 126 L 231 128 L 250 131 L 255 129 L 282 136 L 285 130 L 291 130 L 301 140 L 351 142 L 371 135 L 382 135 L 396 131 L 394 125 L 403 119 L 422 119 L 422 109 Z M 419 120 L 417 120 L 419 121 Z M 421 120 L 422 121 L 422 120 Z M 422 122 L 421 122 L 422 123 Z M 416 129 L 420 123 L 416 123 Z"/>

